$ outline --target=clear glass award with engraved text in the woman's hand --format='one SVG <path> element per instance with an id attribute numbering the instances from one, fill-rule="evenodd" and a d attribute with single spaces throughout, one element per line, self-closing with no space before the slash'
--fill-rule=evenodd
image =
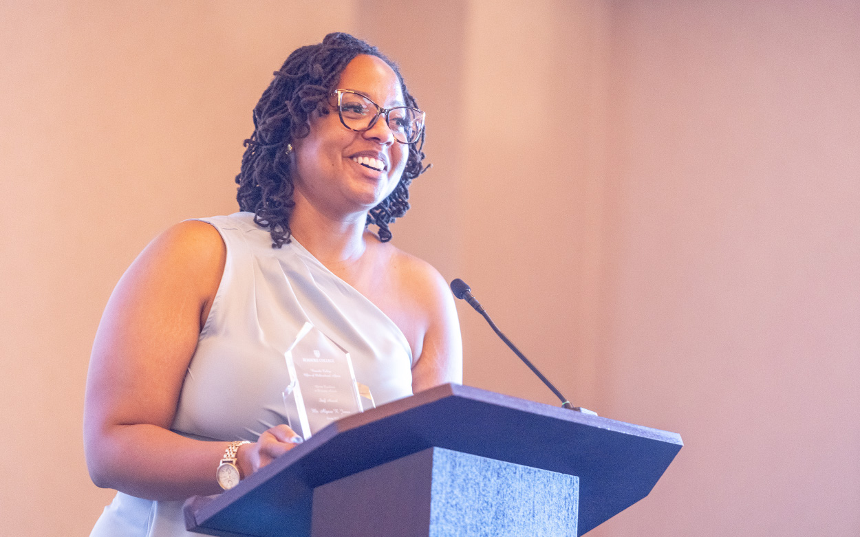
<path id="1" fill-rule="evenodd" d="M 304 323 L 284 358 L 290 374 L 284 390 L 286 414 L 292 430 L 305 440 L 331 422 L 369 406 L 362 405 L 349 353 L 310 322 Z"/>

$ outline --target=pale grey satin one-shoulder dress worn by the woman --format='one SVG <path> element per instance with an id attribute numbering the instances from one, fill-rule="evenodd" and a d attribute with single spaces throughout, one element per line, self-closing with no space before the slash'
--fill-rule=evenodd
<path id="1" fill-rule="evenodd" d="M 254 442 L 287 423 L 284 351 L 306 321 L 349 352 L 356 380 L 370 387 L 377 405 L 412 394 L 406 337 L 365 296 L 297 241 L 273 248 L 253 213 L 200 220 L 218 229 L 227 259 L 171 430 L 201 440 Z M 183 503 L 118 492 L 90 536 L 198 535 L 185 529 Z"/>

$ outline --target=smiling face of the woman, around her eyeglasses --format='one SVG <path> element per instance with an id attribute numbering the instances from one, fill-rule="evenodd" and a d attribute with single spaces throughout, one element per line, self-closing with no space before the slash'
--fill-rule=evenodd
<path id="1" fill-rule="evenodd" d="M 384 108 L 405 104 L 395 72 L 375 56 L 353 58 L 341 73 L 337 88 L 367 95 Z M 409 148 L 394 139 L 384 118 L 368 131 L 350 131 L 341 124 L 337 109 L 331 107 L 322 117 L 311 114 L 309 123 L 310 134 L 292 142 L 296 166 L 293 181 L 296 193 L 318 211 L 330 217 L 356 215 L 394 190 L 406 167 Z"/>

